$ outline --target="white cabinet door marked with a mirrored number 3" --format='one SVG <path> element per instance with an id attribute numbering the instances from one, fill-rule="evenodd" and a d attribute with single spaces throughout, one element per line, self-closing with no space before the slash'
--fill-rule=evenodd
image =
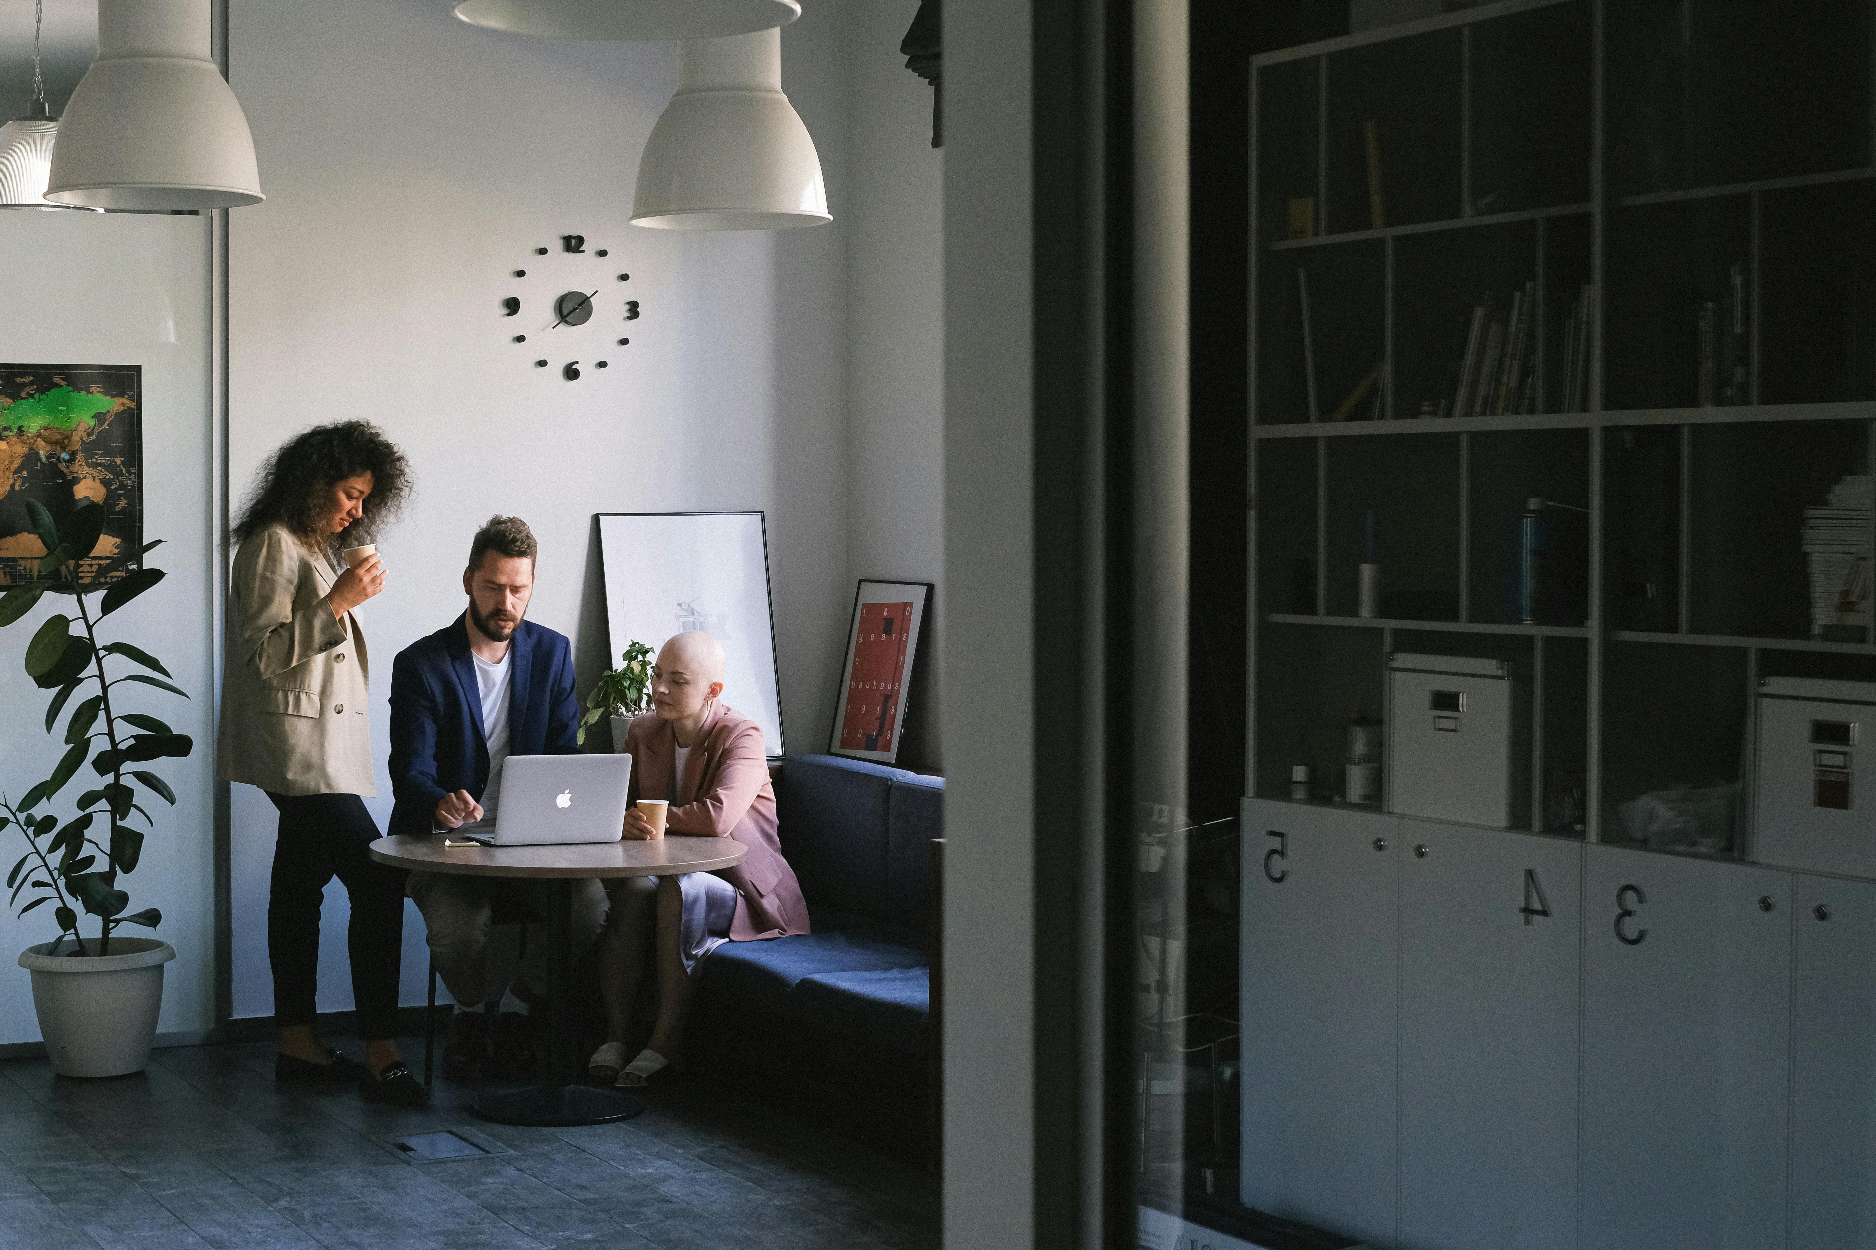
<path id="1" fill-rule="evenodd" d="M 1583 856 L 1580 1244 L 1784 1246 L 1792 875 Z"/>

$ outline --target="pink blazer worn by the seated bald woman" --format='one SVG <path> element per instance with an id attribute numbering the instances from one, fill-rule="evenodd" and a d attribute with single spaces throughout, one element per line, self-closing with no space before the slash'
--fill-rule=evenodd
<path id="1" fill-rule="evenodd" d="M 677 735 L 655 712 L 632 720 L 625 733 L 632 755 L 632 802 L 668 798 L 666 832 L 692 838 L 735 838 L 749 858 L 717 875 L 735 886 L 730 941 L 749 943 L 809 931 L 809 903 L 795 870 L 782 856 L 775 819 L 775 787 L 762 727 L 720 701 L 704 718 L 704 735 L 672 795 Z"/>

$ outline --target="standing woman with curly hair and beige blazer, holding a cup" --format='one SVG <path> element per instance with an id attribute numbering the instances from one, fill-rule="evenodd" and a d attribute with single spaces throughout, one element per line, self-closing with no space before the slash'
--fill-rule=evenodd
<path id="1" fill-rule="evenodd" d="M 430 1093 L 396 1040 L 405 873 L 366 853 L 379 830 L 364 796 L 377 795 L 377 783 L 370 665 L 353 609 L 385 588 L 385 564 L 377 553 L 356 568 L 338 558 L 371 543 L 407 493 L 403 454 L 368 422 L 315 425 L 263 467 L 234 525 L 216 765 L 227 781 L 259 785 L 280 810 L 266 903 L 274 1079 L 356 1081 L 366 1098 L 415 1106 Z M 313 1031 L 319 903 L 332 877 L 351 896 L 364 1066 Z"/>

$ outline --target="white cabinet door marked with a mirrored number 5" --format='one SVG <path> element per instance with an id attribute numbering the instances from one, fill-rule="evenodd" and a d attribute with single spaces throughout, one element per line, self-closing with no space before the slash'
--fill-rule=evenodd
<path id="1" fill-rule="evenodd" d="M 1240 828 L 1242 1201 L 1390 1246 L 1398 821 L 1248 798 Z"/>

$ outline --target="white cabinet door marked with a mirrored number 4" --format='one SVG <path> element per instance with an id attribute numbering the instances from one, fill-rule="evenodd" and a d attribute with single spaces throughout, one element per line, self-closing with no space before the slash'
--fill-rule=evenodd
<path id="1" fill-rule="evenodd" d="M 1399 1244 L 1568 1250 L 1583 847 L 1422 821 L 1399 840 Z"/>

